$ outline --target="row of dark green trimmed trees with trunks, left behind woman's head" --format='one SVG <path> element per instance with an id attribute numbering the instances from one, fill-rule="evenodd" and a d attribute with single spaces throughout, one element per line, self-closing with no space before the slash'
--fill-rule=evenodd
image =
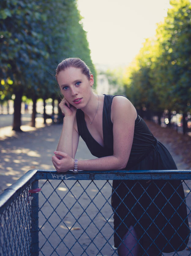
<path id="1" fill-rule="evenodd" d="M 76 0 L 0 2 L 0 97 L 14 99 L 13 130 L 21 126 L 21 100 L 58 97 L 55 69 L 66 57 L 80 57 L 95 73 Z"/>

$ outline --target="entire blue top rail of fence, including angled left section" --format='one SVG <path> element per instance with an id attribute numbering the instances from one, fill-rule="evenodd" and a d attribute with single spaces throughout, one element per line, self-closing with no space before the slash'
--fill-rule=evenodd
<path id="1" fill-rule="evenodd" d="M 191 170 L 110 170 L 110 171 L 79 171 L 71 170 L 58 173 L 56 170 L 29 170 L 13 185 L 7 187 L 0 195 L 0 213 L 10 204 L 13 198 L 21 194 L 21 191 L 38 179 L 69 179 L 69 180 L 152 180 L 152 179 L 191 179 Z"/>

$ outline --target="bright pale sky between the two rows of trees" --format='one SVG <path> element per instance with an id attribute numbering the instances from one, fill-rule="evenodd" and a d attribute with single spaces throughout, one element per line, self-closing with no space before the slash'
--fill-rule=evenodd
<path id="1" fill-rule="evenodd" d="M 144 39 L 155 35 L 169 0 L 77 0 L 94 64 L 128 65 Z"/>

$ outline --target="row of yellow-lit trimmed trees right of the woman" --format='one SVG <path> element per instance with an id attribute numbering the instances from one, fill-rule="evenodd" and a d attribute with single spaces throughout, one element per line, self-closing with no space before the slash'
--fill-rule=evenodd
<path id="1" fill-rule="evenodd" d="M 135 107 L 157 114 L 164 109 L 182 112 L 183 132 L 191 112 L 191 3 L 170 1 L 164 22 L 154 38 L 146 39 L 139 54 L 127 68 L 125 94 Z"/>

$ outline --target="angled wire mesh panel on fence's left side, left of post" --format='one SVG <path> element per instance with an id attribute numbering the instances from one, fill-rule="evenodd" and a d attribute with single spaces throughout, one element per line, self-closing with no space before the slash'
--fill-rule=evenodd
<path id="1" fill-rule="evenodd" d="M 29 256 L 31 207 L 27 202 L 30 184 L 0 213 L 0 255 Z"/>

